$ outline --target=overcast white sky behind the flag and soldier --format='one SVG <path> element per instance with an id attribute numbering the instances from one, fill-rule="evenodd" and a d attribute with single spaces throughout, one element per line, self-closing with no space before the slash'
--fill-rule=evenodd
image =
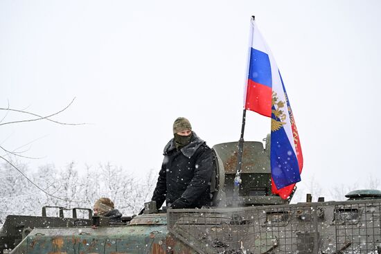
<path id="1" fill-rule="evenodd" d="M 210 146 L 238 140 L 255 15 L 299 129 L 301 186 L 365 183 L 380 177 L 380 13 L 378 0 L 1 0 L 0 107 L 47 115 L 76 97 L 54 119 L 89 123 L 3 125 L 1 146 L 35 140 L 31 167 L 109 161 L 144 176 L 177 116 Z M 267 133 L 247 112 L 245 140 Z"/>

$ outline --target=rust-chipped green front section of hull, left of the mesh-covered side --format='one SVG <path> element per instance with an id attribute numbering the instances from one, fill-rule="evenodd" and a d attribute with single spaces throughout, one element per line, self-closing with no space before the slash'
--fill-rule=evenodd
<path id="1" fill-rule="evenodd" d="M 189 253 L 190 247 L 168 233 L 166 214 L 142 215 L 126 226 L 35 228 L 15 254 Z"/>

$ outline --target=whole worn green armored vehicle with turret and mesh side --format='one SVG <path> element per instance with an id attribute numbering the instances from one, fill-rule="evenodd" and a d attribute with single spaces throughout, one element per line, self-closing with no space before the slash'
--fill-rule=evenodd
<path id="1" fill-rule="evenodd" d="M 157 210 L 149 202 L 143 215 L 120 224 L 89 215 L 39 225 L 4 253 L 381 253 L 380 191 L 351 192 L 348 201 L 289 204 L 291 198 L 271 192 L 267 139 L 265 147 L 245 142 L 242 183 L 233 200 L 237 151 L 237 142 L 213 147 L 213 207 Z"/>

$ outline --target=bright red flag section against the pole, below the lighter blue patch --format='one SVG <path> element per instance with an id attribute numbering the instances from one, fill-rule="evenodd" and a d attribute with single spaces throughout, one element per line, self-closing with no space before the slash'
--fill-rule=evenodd
<path id="1" fill-rule="evenodd" d="M 263 116 L 271 117 L 272 88 L 263 84 L 247 81 L 245 109 L 255 111 Z"/>

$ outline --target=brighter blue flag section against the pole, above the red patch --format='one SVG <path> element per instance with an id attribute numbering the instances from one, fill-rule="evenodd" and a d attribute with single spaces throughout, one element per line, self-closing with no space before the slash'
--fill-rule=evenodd
<path id="1" fill-rule="evenodd" d="M 251 48 L 248 78 L 259 84 L 272 87 L 270 60 L 266 53 Z"/>

